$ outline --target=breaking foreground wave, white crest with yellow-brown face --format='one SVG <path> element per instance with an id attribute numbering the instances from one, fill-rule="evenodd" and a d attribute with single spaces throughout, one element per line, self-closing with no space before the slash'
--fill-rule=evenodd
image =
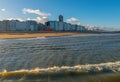
<path id="1" fill-rule="evenodd" d="M 70 76 L 70 75 L 90 75 L 90 74 L 104 74 L 104 73 L 120 73 L 120 61 L 109 62 L 101 64 L 88 64 L 88 65 L 76 65 L 73 67 L 62 66 L 62 67 L 49 67 L 49 68 L 35 68 L 31 70 L 21 69 L 16 71 L 4 70 L 0 72 L 0 79 L 3 78 L 16 78 L 21 79 L 23 77 L 30 78 L 34 77 L 59 77 L 59 76 Z M 120 74 L 116 76 L 120 77 Z M 88 81 L 89 82 L 89 81 Z M 93 81 L 96 82 L 96 81 Z"/>

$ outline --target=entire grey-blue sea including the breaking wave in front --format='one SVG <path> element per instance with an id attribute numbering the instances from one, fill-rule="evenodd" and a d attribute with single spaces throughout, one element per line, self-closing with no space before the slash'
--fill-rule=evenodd
<path id="1" fill-rule="evenodd" d="M 0 82 L 120 82 L 120 34 L 0 39 Z"/>

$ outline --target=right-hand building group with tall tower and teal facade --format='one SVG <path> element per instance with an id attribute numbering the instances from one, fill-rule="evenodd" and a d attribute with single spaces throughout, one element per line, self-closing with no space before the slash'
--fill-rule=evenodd
<path id="1" fill-rule="evenodd" d="M 63 16 L 60 15 L 59 21 L 48 21 L 45 25 L 51 29 L 51 31 L 86 31 L 85 26 L 82 25 L 72 25 L 70 23 L 63 21 Z"/>

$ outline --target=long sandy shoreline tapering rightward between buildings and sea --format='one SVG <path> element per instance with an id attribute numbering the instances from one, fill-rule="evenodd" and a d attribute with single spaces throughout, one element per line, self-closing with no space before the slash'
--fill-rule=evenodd
<path id="1" fill-rule="evenodd" d="M 104 32 L 103 32 L 104 33 Z M 37 37 L 85 36 L 88 34 L 103 34 L 102 32 L 6 32 L 0 33 L 0 39 L 21 39 Z M 106 33 L 109 34 L 109 33 Z"/>

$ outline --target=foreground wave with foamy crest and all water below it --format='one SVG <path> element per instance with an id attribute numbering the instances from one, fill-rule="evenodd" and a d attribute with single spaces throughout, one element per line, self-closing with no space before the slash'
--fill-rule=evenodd
<path id="1" fill-rule="evenodd" d="M 0 72 L 5 82 L 120 82 L 120 61 Z"/>

